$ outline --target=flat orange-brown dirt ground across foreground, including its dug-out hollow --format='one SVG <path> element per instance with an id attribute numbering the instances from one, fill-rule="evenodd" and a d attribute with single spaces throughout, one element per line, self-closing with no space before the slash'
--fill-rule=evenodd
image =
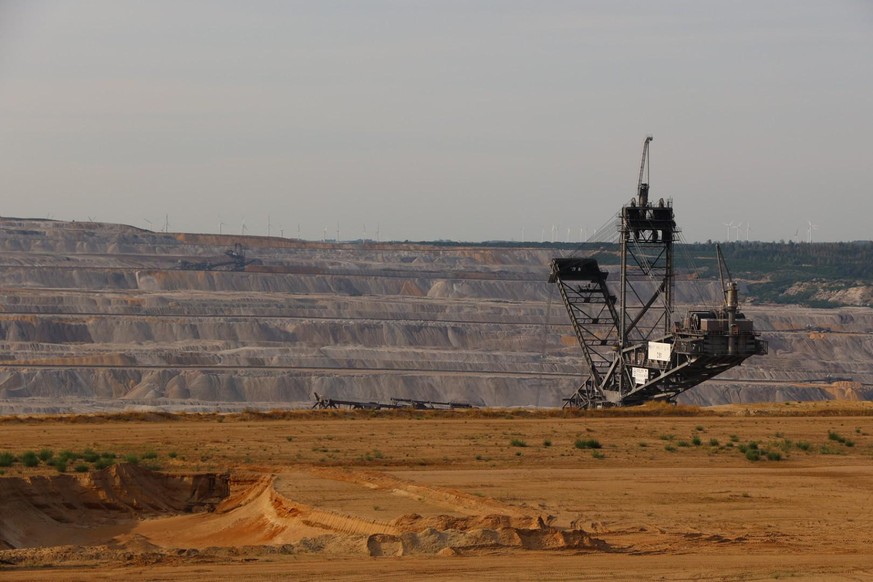
<path id="1" fill-rule="evenodd" d="M 4 417 L 0 442 L 4 581 L 873 578 L 873 403 Z M 21 461 L 48 449 L 65 472 Z"/>

